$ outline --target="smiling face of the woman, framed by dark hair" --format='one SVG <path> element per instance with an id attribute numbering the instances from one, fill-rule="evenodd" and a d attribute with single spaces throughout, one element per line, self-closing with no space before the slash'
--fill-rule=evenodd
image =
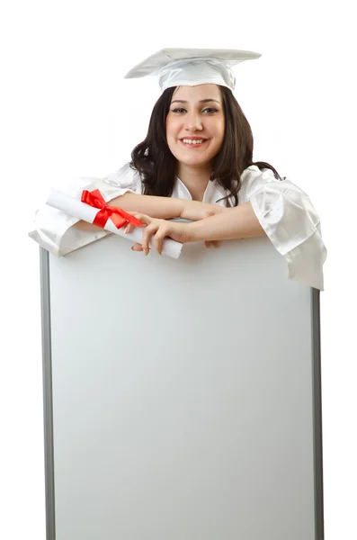
<path id="1" fill-rule="evenodd" d="M 166 139 L 178 161 L 189 166 L 209 164 L 219 152 L 224 130 L 218 85 L 176 88 L 166 116 Z"/>

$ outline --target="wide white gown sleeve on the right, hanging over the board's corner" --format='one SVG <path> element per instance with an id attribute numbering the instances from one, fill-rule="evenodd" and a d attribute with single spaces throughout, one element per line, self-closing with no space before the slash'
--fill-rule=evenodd
<path id="1" fill-rule="evenodd" d="M 243 196 L 243 200 L 242 200 Z M 324 290 L 326 247 L 308 194 L 271 169 L 250 166 L 242 174 L 241 202 L 251 202 L 266 235 L 288 265 L 288 277 Z"/>

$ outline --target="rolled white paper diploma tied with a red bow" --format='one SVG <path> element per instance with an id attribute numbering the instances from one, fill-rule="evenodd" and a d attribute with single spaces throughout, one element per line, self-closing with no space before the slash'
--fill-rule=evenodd
<path id="1" fill-rule="evenodd" d="M 78 218 L 79 220 L 87 221 L 88 223 L 94 222 L 95 216 L 100 210 L 98 208 L 93 208 L 93 206 L 90 206 L 89 204 L 85 204 L 85 202 L 78 201 L 78 199 L 70 197 L 66 193 L 58 192 L 56 189 L 50 190 L 46 203 L 53 208 L 57 208 L 57 210 L 64 211 L 68 215 Z M 125 226 L 121 229 L 117 229 L 112 220 L 109 219 L 107 220 L 104 229 L 117 234 L 122 238 L 128 238 L 132 242 L 141 244 L 142 231 L 139 227 L 128 234 L 124 234 Z M 149 241 L 149 246 L 152 247 L 152 249 L 155 249 L 152 240 Z M 172 238 L 165 238 L 163 241 L 162 253 L 163 255 L 177 259 L 181 255 L 182 248 L 183 244 L 180 242 L 176 242 Z"/>

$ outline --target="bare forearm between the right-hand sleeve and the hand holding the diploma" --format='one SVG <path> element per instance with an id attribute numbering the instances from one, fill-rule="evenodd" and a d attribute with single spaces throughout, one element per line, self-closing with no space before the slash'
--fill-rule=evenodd
<path id="1" fill-rule="evenodd" d="M 193 241 L 231 240 L 265 234 L 250 202 L 244 202 L 218 215 L 190 223 L 188 227 L 191 229 Z"/>

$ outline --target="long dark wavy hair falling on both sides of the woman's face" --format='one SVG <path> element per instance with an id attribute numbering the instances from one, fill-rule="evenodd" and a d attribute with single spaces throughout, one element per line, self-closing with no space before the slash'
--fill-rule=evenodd
<path id="1" fill-rule="evenodd" d="M 234 206 L 239 203 L 240 175 L 251 165 L 261 170 L 269 168 L 275 178 L 281 176 L 269 163 L 252 161 L 253 133 L 245 114 L 229 88 L 220 86 L 225 114 L 225 133 L 219 153 L 213 158 L 210 180 L 216 180 L 228 195 L 224 197 L 229 206 L 232 197 Z M 176 178 L 176 158 L 166 140 L 166 116 L 175 87 L 166 88 L 157 100 L 148 125 L 147 137 L 131 152 L 130 166 L 137 170 L 142 179 L 143 194 L 170 197 Z"/>

